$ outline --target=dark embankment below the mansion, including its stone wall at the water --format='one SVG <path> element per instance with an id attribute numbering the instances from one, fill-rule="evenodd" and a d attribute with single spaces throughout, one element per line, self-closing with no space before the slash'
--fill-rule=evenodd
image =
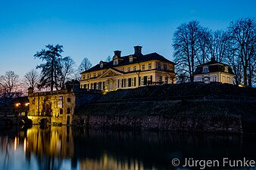
<path id="1" fill-rule="evenodd" d="M 256 90 L 186 83 L 112 91 L 73 116 L 73 125 L 243 133 L 256 129 Z"/>

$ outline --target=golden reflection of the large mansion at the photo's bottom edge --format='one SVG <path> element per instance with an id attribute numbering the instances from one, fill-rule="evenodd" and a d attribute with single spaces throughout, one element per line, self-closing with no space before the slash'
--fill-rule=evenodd
<path id="1" fill-rule="evenodd" d="M 93 170 L 144 170 L 142 162 L 137 159 L 117 159 L 108 154 L 103 154 L 100 159 L 84 159 L 80 160 L 80 169 L 93 169 Z M 151 170 L 156 169 L 151 167 Z"/>

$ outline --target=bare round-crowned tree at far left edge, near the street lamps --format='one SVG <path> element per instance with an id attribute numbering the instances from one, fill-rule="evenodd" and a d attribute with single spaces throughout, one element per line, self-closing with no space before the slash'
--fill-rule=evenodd
<path id="1" fill-rule="evenodd" d="M 19 76 L 13 71 L 8 71 L 4 76 L 0 76 L 1 97 L 11 101 L 11 98 L 20 96 Z"/>

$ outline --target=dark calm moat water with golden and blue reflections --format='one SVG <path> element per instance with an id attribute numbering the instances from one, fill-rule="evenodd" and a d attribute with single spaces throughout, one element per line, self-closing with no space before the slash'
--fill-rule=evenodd
<path id="1" fill-rule="evenodd" d="M 255 151 L 255 134 L 38 125 L 0 130 L 1 170 L 256 169 Z"/>

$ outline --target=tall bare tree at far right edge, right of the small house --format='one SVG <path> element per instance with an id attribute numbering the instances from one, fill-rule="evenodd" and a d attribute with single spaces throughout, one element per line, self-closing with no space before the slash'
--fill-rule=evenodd
<path id="1" fill-rule="evenodd" d="M 242 64 L 244 85 L 252 85 L 253 66 L 256 60 L 256 27 L 254 19 L 245 18 L 232 21 L 228 28 L 233 56 Z M 249 79 L 248 79 L 249 78 Z"/>

